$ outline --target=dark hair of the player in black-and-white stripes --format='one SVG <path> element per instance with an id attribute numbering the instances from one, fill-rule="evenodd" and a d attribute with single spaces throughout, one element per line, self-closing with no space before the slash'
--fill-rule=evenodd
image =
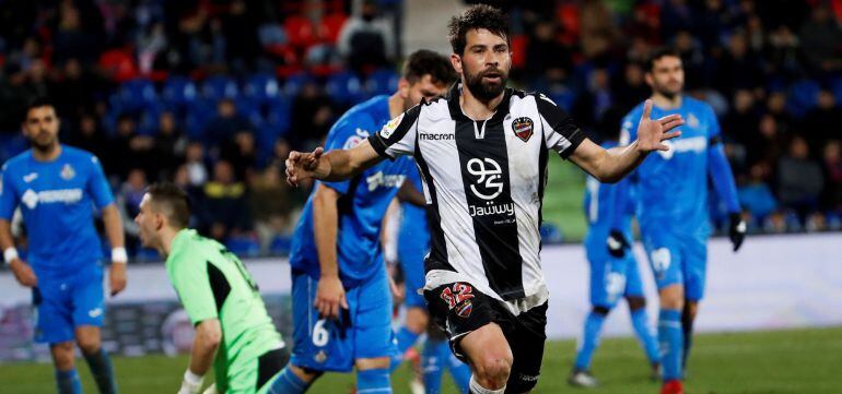
<path id="1" fill-rule="evenodd" d="M 469 7 L 460 15 L 452 17 L 447 28 L 449 29 L 447 38 L 451 40 L 453 52 L 456 55 L 465 53 L 465 46 L 468 45 L 468 32 L 476 28 L 484 28 L 505 38 L 508 43 L 506 16 L 499 9 L 487 4 Z"/>

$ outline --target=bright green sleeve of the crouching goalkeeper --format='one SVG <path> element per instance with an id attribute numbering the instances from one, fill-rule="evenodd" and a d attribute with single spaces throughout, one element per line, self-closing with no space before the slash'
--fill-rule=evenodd
<path id="1" fill-rule="evenodd" d="M 185 256 L 182 254 L 173 261 L 173 287 L 184 305 L 184 310 L 196 325 L 208 319 L 217 319 L 217 301 L 211 289 L 211 263 L 198 258 L 200 254 Z"/>

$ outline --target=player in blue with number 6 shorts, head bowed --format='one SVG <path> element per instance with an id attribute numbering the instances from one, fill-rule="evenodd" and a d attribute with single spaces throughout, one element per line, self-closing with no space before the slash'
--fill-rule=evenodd
<path id="1" fill-rule="evenodd" d="M 445 92 L 454 72 L 447 58 L 428 50 L 407 59 L 398 91 L 346 112 L 331 128 L 326 150 L 350 148 L 389 119 Z M 411 159 L 384 162 L 353 179 L 316 182 L 290 252 L 293 342 L 281 394 L 303 393 L 323 372 L 356 368 L 358 393 L 390 393 L 391 294 L 379 236 L 391 200 L 425 204 L 404 187 Z M 277 391 L 276 391 L 277 392 Z"/>

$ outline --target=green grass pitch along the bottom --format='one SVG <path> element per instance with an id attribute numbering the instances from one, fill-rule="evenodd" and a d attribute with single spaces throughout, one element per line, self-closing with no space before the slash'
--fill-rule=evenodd
<path id="1" fill-rule="evenodd" d="M 594 358 L 597 390 L 573 389 L 565 379 L 573 362 L 572 341 L 550 342 L 534 393 L 657 393 L 647 379 L 643 354 L 632 338 L 608 338 Z M 174 393 L 186 357 L 115 358 L 120 393 Z M 95 393 L 86 366 L 80 366 L 85 393 Z M 408 393 L 409 369 L 394 379 L 395 393 Z M 455 393 L 445 378 L 445 393 Z M 343 394 L 353 375 L 327 374 L 309 393 Z M 0 365 L 0 392 L 52 393 L 52 369 L 46 363 Z M 698 335 L 690 359 L 689 394 L 842 393 L 842 327 Z"/>

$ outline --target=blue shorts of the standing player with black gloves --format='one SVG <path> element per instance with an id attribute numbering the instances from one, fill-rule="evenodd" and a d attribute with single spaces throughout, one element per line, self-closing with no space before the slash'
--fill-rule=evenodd
<path id="1" fill-rule="evenodd" d="M 658 290 L 671 285 L 683 285 L 685 298 L 701 300 L 704 297 L 707 268 L 707 240 L 653 232 L 644 235 L 643 243 Z"/>

